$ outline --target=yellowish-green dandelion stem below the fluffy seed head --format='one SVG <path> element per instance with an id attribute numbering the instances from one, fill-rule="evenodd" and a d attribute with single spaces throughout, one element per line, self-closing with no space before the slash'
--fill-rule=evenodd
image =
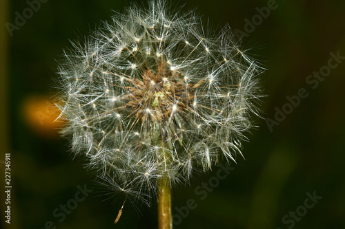
<path id="1" fill-rule="evenodd" d="M 158 228 L 172 229 L 171 187 L 167 175 L 159 179 L 158 192 Z"/>

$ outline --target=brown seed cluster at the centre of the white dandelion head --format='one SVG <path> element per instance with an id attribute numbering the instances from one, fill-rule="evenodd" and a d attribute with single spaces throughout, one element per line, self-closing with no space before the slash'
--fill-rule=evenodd
<path id="1" fill-rule="evenodd" d="M 155 71 L 143 67 L 141 72 L 141 78 L 128 78 L 130 86 L 124 87 L 129 91 L 121 99 L 121 109 L 128 110 L 126 118 L 141 125 L 157 123 L 160 127 L 176 123 L 177 114 L 187 118 L 195 95 L 192 85 L 184 82 L 184 75 L 168 69 L 162 56 Z"/>

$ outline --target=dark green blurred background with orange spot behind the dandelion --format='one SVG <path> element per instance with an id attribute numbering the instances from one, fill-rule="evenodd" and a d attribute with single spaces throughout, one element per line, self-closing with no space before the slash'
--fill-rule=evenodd
<path id="1" fill-rule="evenodd" d="M 11 153 L 12 183 L 6 228 L 157 228 L 156 206 L 140 208 L 140 214 L 125 206 L 119 223 L 112 224 L 122 202 L 106 199 L 52 122 L 57 116 L 50 100 L 55 59 L 69 39 L 88 34 L 130 1 L 41 0 L 39 7 L 31 6 L 36 8 L 32 15 L 31 1 L 0 2 L 0 169 L 4 174 L 4 154 Z M 246 160 L 238 157 L 219 184 L 214 183 L 216 166 L 174 190 L 175 228 L 345 228 L 345 61 L 337 60 L 327 72 L 331 52 L 345 56 L 345 1 L 179 1 L 184 4 L 185 11 L 197 8 L 219 27 L 229 23 L 246 33 L 243 46 L 268 69 L 260 76 L 267 96 L 259 128 L 244 143 Z M 267 6 L 274 9 L 266 18 L 255 16 L 257 8 Z M 18 14 L 28 19 L 17 19 Z M 329 75 L 306 83 L 320 69 Z M 308 97 L 290 111 L 286 96 L 296 96 L 301 88 Z M 288 114 L 277 122 L 282 109 Z M 214 188 L 205 192 L 201 182 Z M 75 201 L 78 186 L 93 191 Z M 313 195 L 319 196 L 314 202 Z M 187 211 L 188 199 L 195 204 Z M 61 213 L 66 204 L 73 209 Z"/>

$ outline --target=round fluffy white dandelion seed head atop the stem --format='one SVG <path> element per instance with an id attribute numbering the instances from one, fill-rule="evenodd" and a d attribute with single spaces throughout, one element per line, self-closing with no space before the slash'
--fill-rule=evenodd
<path id="1" fill-rule="evenodd" d="M 61 134 L 105 183 L 146 203 L 159 177 L 187 182 L 241 155 L 262 72 L 230 28 L 214 36 L 193 12 L 148 5 L 112 16 L 59 65 Z"/>

